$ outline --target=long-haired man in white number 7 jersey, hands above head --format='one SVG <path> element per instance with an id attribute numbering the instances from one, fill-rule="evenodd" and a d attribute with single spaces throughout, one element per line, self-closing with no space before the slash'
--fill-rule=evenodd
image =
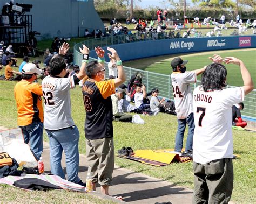
<path id="1" fill-rule="evenodd" d="M 232 105 L 244 101 L 253 90 L 253 81 L 244 62 L 234 57 L 222 60 L 215 55 L 213 64 L 202 74 L 193 92 L 195 131 L 193 138 L 193 203 L 228 203 L 233 189 Z M 243 87 L 226 87 L 224 65 L 240 67 Z M 219 62 L 219 63 L 217 63 Z"/>

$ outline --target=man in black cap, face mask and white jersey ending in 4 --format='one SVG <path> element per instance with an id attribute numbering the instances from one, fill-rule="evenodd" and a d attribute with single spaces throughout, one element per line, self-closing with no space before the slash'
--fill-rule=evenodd
<path id="1" fill-rule="evenodd" d="M 174 151 L 176 152 L 181 152 L 183 147 L 183 137 L 186 124 L 188 125 L 188 135 L 185 152 L 188 150 L 192 151 L 194 118 L 190 83 L 196 83 L 197 75 L 203 73 L 206 68 L 204 67 L 191 72 L 186 72 L 186 64 L 187 60 L 183 61 L 181 58 L 174 58 L 171 61 L 173 70 L 171 74 L 172 90 L 178 119 L 178 130 L 176 133 L 174 148 Z"/>

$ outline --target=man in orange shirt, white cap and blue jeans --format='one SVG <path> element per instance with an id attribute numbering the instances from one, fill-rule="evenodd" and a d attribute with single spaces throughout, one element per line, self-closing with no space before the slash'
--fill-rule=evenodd
<path id="1" fill-rule="evenodd" d="M 25 64 L 22 68 L 22 80 L 14 87 L 18 126 L 22 129 L 24 142 L 30 143 L 30 149 L 37 160 L 43 152 L 43 92 L 42 86 L 33 81 L 41 72 L 35 64 Z"/>

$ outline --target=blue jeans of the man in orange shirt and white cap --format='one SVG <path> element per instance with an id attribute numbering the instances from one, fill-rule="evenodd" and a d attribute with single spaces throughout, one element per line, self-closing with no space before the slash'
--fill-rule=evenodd
<path id="1" fill-rule="evenodd" d="M 24 142 L 30 143 L 30 149 L 32 150 L 35 158 L 39 160 L 43 152 L 43 131 L 44 124 L 41 122 L 33 122 L 30 125 L 19 126 L 22 129 Z"/>

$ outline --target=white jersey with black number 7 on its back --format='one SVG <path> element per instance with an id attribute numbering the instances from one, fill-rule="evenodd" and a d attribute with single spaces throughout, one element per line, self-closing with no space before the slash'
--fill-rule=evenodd
<path id="1" fill-rule="evenodd" d="M 233 157 L 232 105 L 244 101 L 242 87 L 193 92 L 193 161 L 207 164 Z"/>

